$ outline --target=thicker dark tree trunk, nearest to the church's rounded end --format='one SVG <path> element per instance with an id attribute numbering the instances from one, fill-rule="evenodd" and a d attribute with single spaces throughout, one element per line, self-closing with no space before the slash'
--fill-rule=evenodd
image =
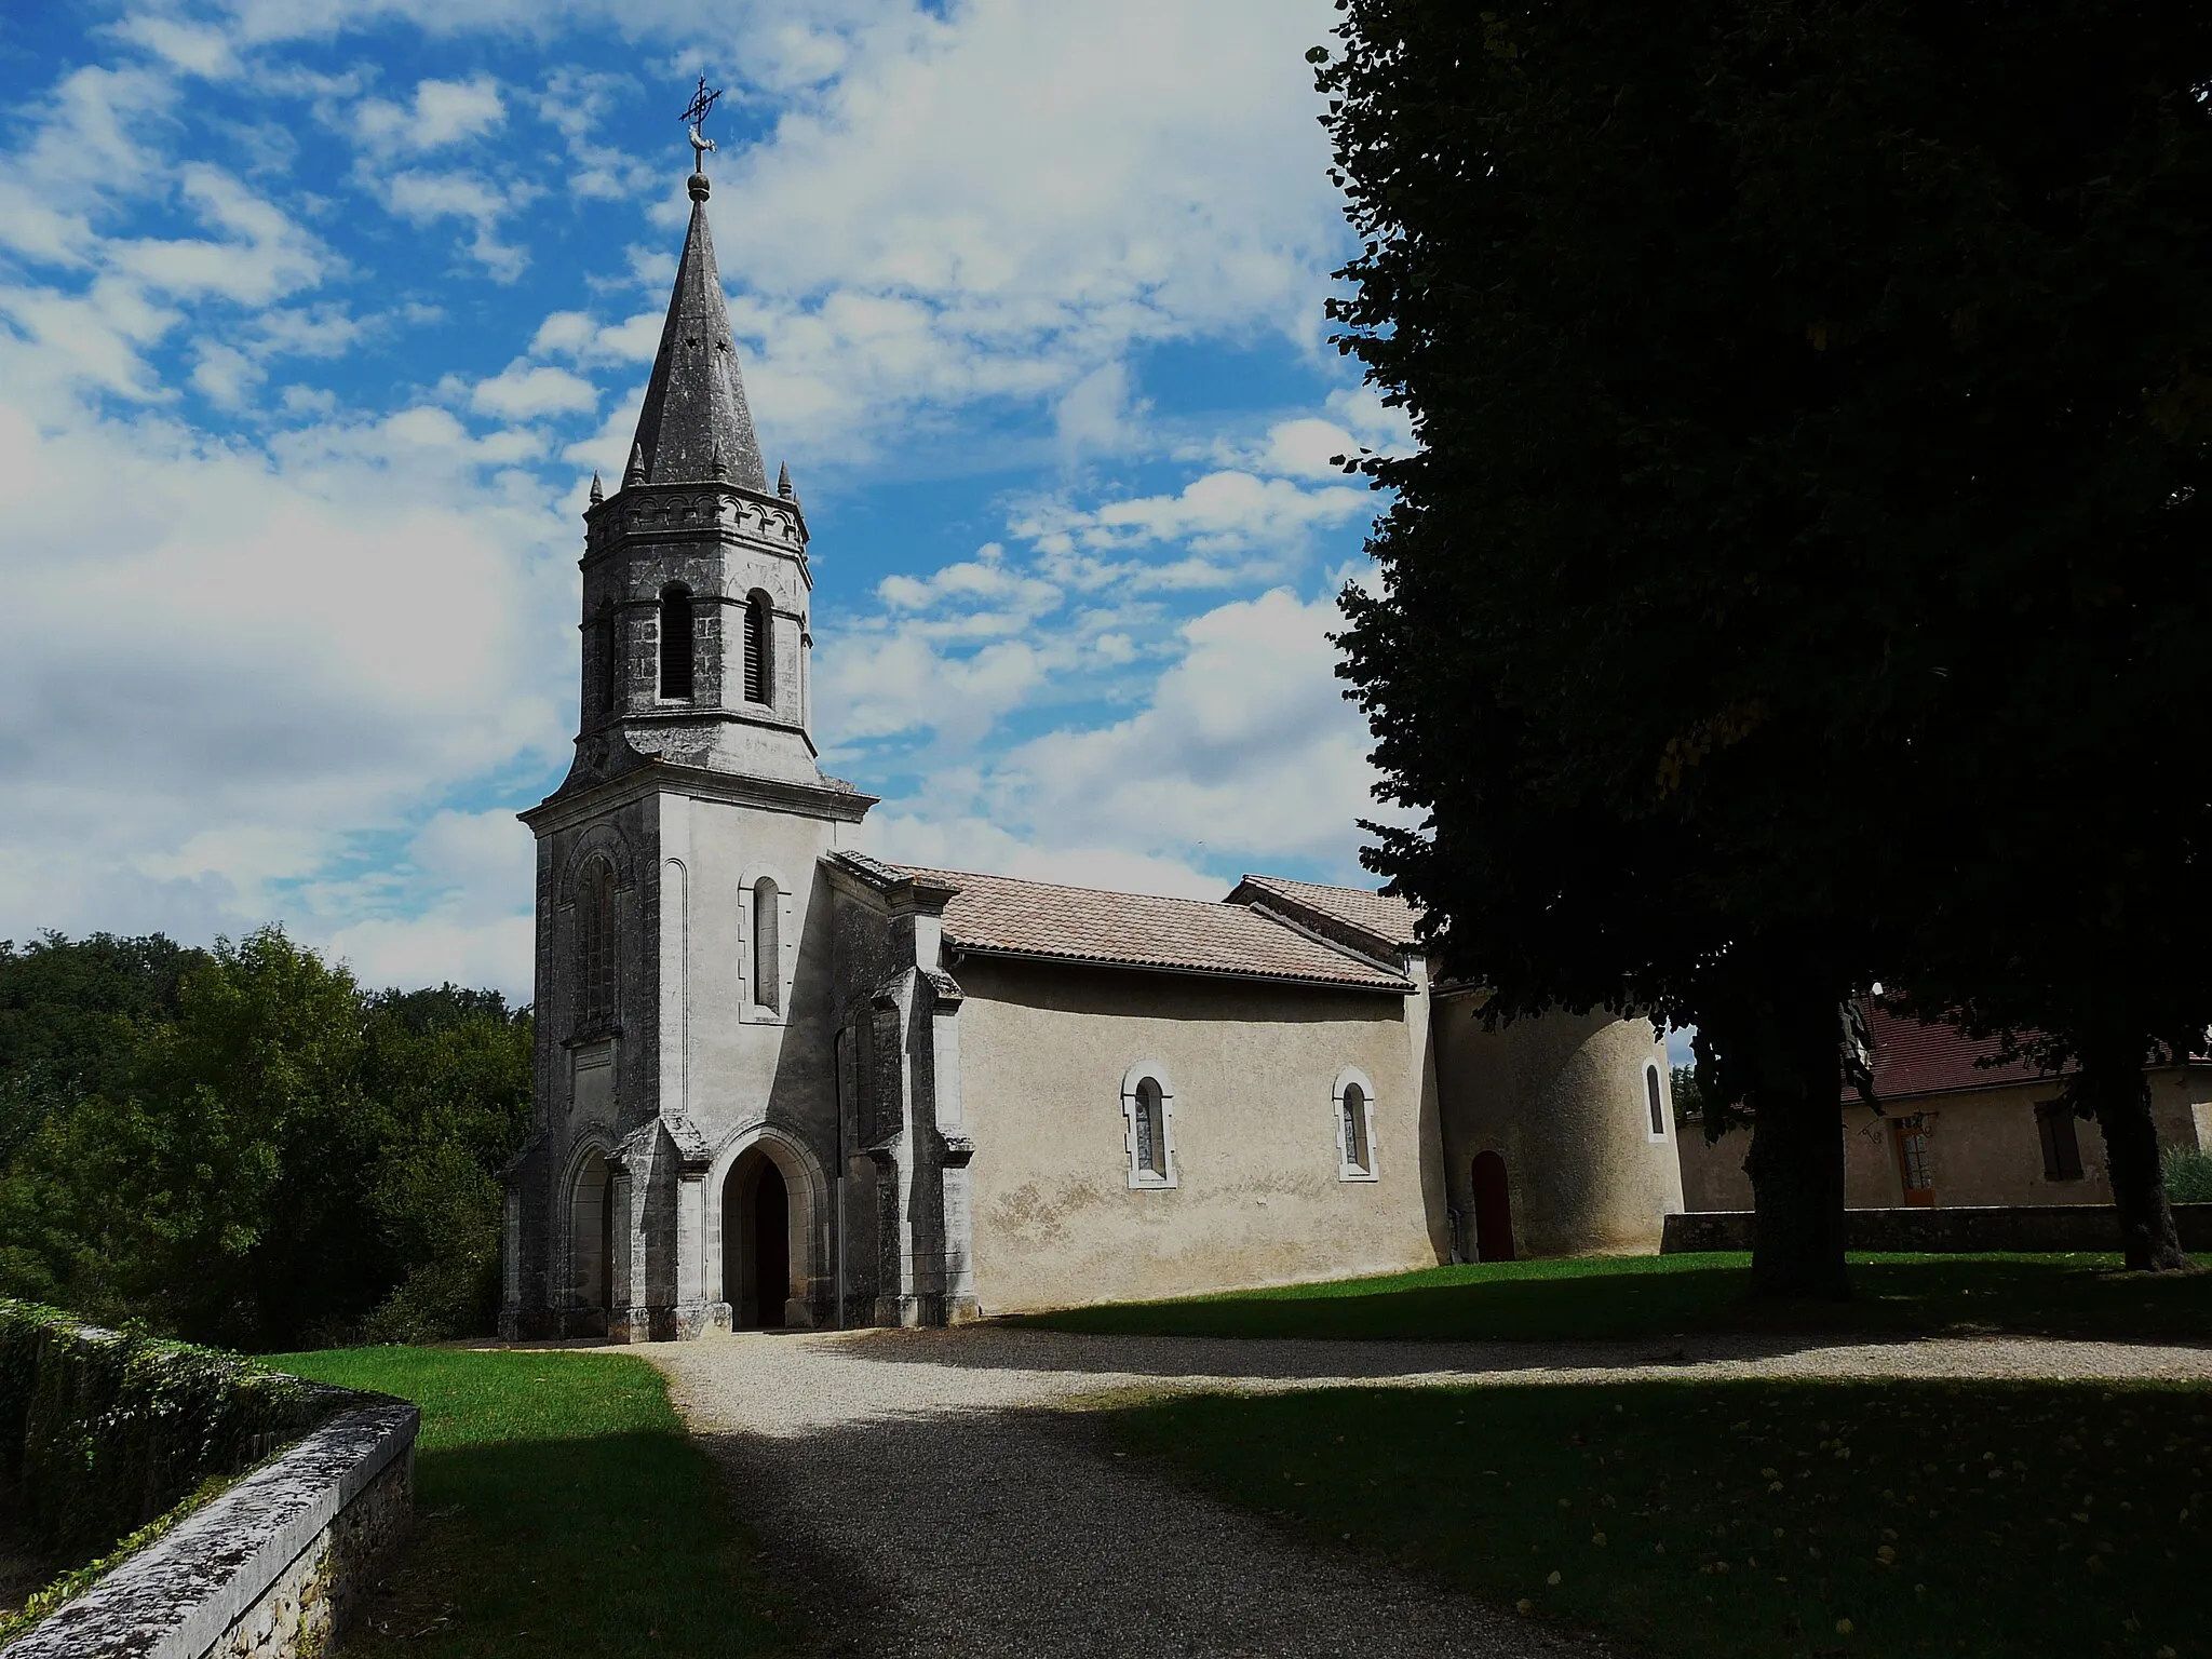
<path id="1" fill-rule="evenodd" d="M 1752 1294 L 1845 1301 L 1838 1000 L 1767 998 L 1752 1097 Z"/>

